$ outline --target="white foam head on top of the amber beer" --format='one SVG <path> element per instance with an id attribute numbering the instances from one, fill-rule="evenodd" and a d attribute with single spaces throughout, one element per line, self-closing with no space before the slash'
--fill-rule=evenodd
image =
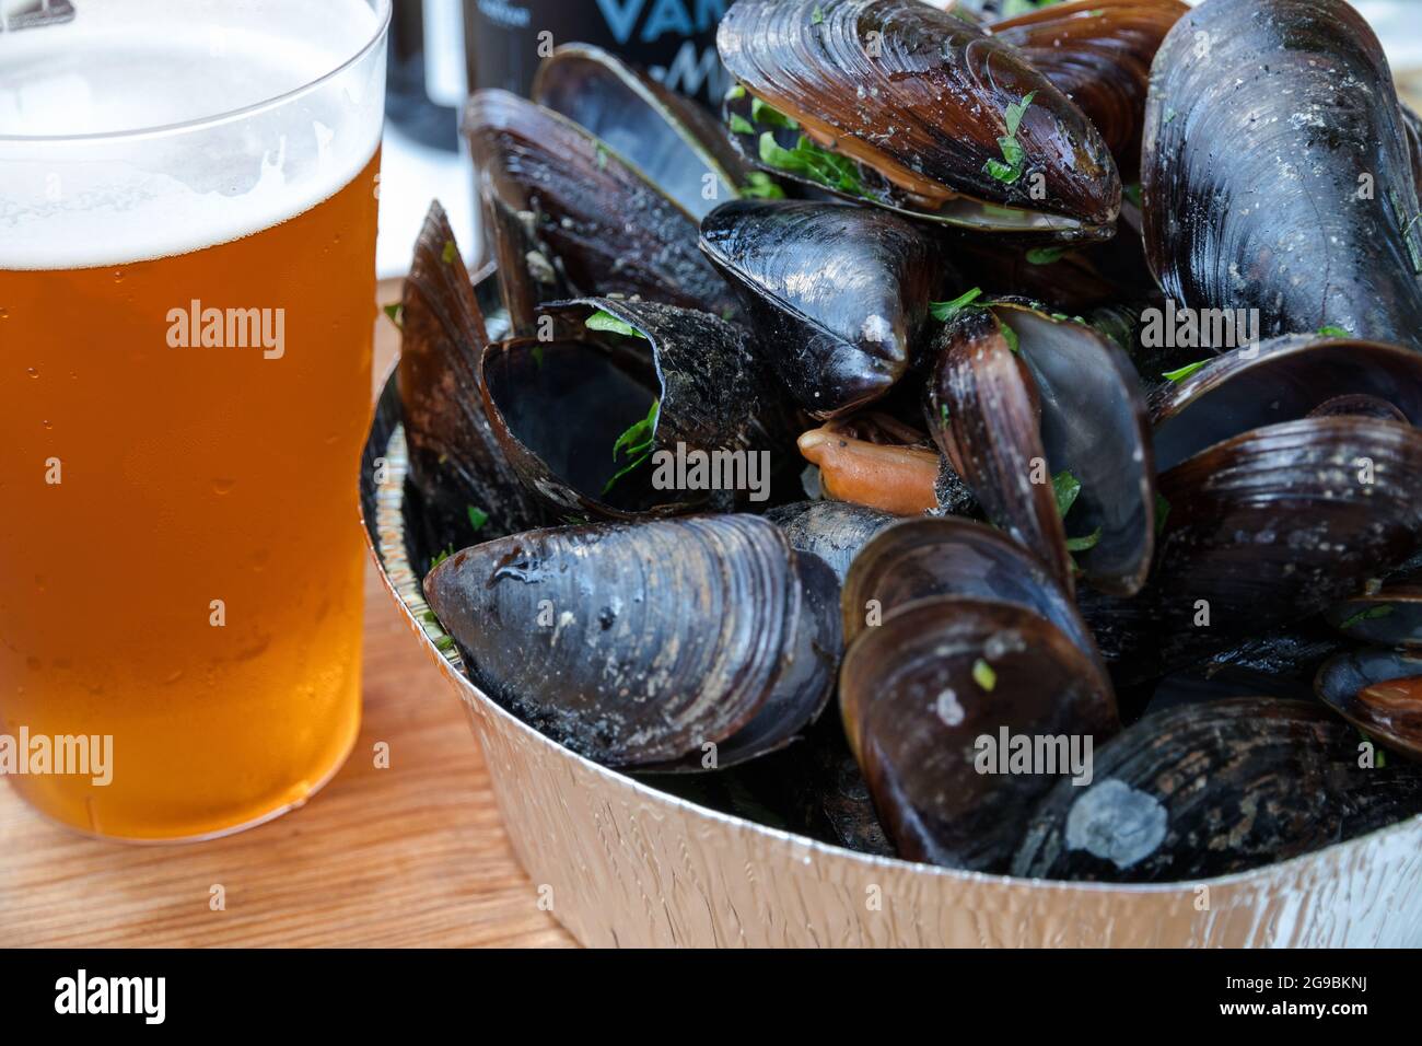
<path id="1" fill-rule="evenodd" d="M 0 34 L 0 269 L 125 265 L 239 239 L 328 199 L 380 144 L 384 48 L 262 105 L 361 50 L 378 26 L 365 0 L 75 7 L 71 23 Z M 141 132 L 245 107 L 257 111 Z"/>

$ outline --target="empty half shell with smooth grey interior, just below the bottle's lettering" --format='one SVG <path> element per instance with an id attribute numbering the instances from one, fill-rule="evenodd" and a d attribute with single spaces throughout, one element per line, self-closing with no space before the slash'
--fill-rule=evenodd
<path id="1" fill-rule="evenodd" d="M 749 181 L 711 114 L 600 47 L 559 46 L 539 65 L 532 97 L 626 157 L 697 221 Z"/>

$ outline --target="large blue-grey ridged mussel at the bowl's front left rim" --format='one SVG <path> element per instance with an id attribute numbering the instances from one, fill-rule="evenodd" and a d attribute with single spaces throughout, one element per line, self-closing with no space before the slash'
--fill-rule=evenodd
<path id="1" fill-rule="evenodd" d="M 788 744 L 839 659 L 835 575 L 748 515 L 529 531 L 425 595 L 471 677 L 606 766 L 729 767 Z"/>

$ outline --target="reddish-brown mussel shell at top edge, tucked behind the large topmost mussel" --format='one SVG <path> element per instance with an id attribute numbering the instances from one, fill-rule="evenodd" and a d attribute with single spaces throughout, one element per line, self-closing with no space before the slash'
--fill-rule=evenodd
<path id="1" fill-rule="evenodd" d="M 1130 181 L 1140 167 L 1150 63 L 1187 10 L 1182 0 L 1075 0 L 995 21 L 991 30 L 1076 102 Z"/>

